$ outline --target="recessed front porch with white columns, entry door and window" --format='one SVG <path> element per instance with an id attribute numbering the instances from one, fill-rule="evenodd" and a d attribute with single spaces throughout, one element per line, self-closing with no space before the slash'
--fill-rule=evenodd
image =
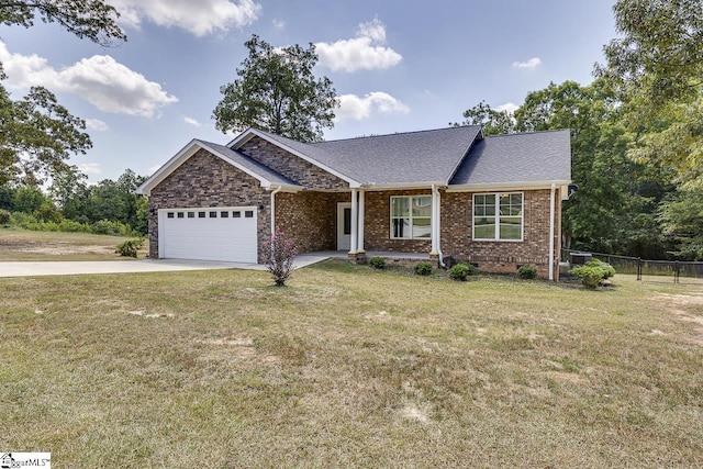
<path id="1" fill-rule="evenodd" d="M 437 260 L 440 253 L 439 196 L 432 189 L 281 192 L 271 194 L 271 208 L 270 226 L 301 254 L 364 263 L 375 256 Z"/>

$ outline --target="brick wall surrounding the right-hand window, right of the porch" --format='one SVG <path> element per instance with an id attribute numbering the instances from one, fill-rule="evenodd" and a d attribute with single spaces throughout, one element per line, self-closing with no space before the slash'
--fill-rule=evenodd
<path id="1" fill-rule="evenodd" d="M 533 264 L 539 277 L 549 276 L 549 190 L 524 191 L 523 241 L 479 242 L 471 237 L 470 192 L 442 193 L 442 252 L 453 261 L 469 261 L 488 272 L 514 273 Z M 558 192 L 557 192 L 558 194 Z M 555 205 L 555 277 L 558 276 L 561 201 Z"/>

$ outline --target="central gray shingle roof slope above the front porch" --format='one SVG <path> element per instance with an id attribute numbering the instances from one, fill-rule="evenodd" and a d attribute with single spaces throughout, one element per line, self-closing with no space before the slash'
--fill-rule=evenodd
<path id="1" fill-rule="evenodd" d="M 375 186 L 447 183 L 478 125 L 303 144 L 265 133 L 315 161 Z"/>

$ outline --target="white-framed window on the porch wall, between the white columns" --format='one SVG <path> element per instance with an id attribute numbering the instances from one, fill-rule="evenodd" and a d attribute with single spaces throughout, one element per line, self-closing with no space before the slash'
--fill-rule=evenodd
<path id="1" fill-rule="evenodd" d="M 391 238 L 429 239 L 432 237 L 432 197 L 391 197 Z"/>

